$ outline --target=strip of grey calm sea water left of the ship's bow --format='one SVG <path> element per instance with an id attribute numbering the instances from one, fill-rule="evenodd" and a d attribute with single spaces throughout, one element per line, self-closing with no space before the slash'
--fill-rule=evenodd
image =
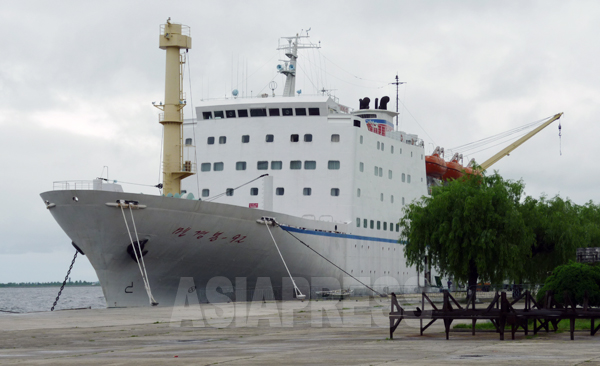
<path id="1" fill-rule="evenodd" d="M 0 288 L 0 313 L 50 311 L 60 287 Z M 54 310 L 106 308 L 100 286 L 65 287 Z"/>

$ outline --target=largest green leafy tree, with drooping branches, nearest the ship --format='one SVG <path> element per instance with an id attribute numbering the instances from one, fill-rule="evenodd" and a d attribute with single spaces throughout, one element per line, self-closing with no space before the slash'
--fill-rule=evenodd
<path id="1" fill-rule="evenodd" d="M 400 221 L 409 265 L 425 258 L 442 275 L 475 286 L 477 280 L 522 278 L 534 235 L 520 210 L 523 182 L 465 175 L 434 187 L 430 197 L 407 205 Z"/>

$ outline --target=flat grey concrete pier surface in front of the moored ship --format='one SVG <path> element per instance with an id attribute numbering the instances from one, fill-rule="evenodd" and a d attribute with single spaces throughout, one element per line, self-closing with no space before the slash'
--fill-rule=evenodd
<path id="1" fill-rule="evenodd" d="M 494 332 L 419 336 L 404 323 L 387 340 L 389 300 L 259 302 L 200 308 L 0 313 L 0 365 L 600 365 L 600 338 Z"/>

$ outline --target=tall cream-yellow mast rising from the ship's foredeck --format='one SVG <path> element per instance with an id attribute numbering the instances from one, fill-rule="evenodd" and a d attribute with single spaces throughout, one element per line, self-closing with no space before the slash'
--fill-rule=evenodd
<path id="1" fill-rule="evenodd" d="M 161 109 L 160 124 L 164 128 L 163 139 L 163 194 L 181 193 L 181 180 L 195 174 L 190 161 L 183 162 L 183 64 L 185 55 L 181 49 L 192 48 L 189 27 L 171 23 L 160 27 L 159 48 L 167 51 L 165 73 L 165 101 L 155 107 Z"/>

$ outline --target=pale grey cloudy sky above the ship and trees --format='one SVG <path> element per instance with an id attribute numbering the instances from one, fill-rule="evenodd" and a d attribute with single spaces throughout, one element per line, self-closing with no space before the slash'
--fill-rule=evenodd
<path id="1" fill-rule="evenodd" d="M 159 25 L 191 27 L 188 105 L 268 91 L 279 37 L 310 29 L 297 89 L 389 95 L 401 129 L 446 149 L 564 112 L 493 169 L 528 195 L 600 202 L 597 1 L 0 1 L 0 282 L 61 281 L 74 253 L 39 193 L 108 167 L 159 180 Z M 191 83 L 188 82 L 191 80 Z M 190 101 L 192 103 L 190 103 Z M 186 107 L 187 117 L 191 109 Z M 468 158 L 482 162 L 501 146 Z M 467 158 L 467 157 L 465 157 Z M 106 171 L 105 171 L 106 174 Z M 156 193 L 144 186 L 126 190 Z M 95 280 L 87 259 L 73 279 Z"/>

